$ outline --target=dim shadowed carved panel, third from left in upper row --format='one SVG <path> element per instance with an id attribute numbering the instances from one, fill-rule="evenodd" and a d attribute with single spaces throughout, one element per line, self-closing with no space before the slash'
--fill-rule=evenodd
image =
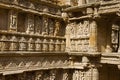
<path id="1" fill-rule="evenodd" d="M 42 32 L 42 17 L 41 16 L 35 16 L 35 33 L 41 34 Z"/>

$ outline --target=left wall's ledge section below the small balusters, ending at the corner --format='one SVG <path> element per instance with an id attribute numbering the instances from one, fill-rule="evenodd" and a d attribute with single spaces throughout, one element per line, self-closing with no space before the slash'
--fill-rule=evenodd
<path id="1" fill-rule="evenodd" d="M 34 51 L 1 51 L 0 57 L 17 57 L 17 56 L 62 56 L 62 55 L 69 55 L 67 52 L 34 52 Z"/>

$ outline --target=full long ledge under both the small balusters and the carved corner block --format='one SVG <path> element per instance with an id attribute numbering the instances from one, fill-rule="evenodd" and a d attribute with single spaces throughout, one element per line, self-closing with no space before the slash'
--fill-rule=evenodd
<path id="1" fill-rule="evenodd" d="M 0 57 L 8 56 L 91 56 L 91 57 L 100 57 L 101 53 L 99 52 L 35 52 L 35 51 L 1 51 Z"/>

